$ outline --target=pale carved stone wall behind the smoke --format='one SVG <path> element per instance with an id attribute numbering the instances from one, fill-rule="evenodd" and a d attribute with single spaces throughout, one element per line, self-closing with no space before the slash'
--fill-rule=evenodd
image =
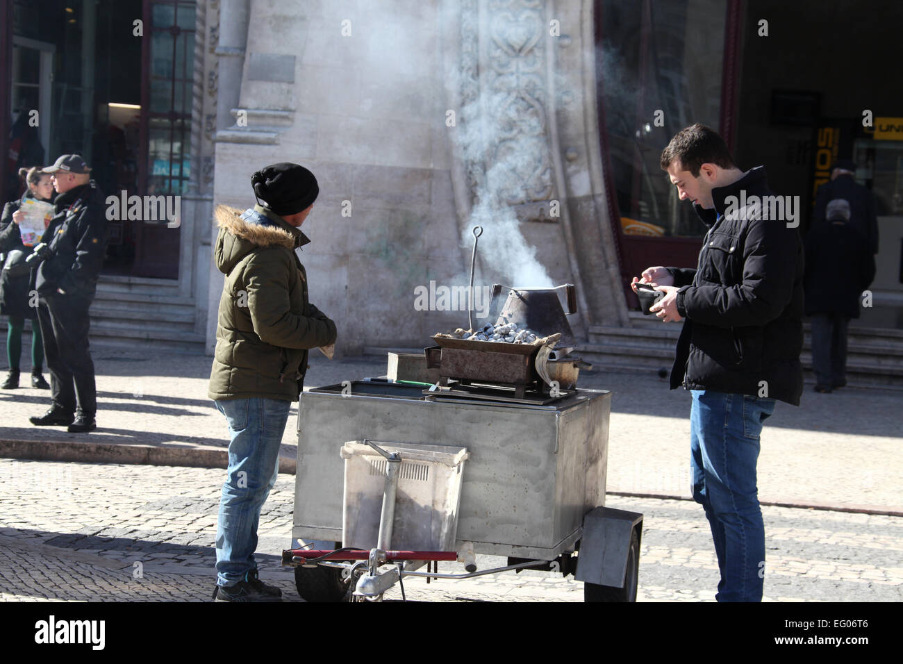
<path id="1" fill-rule="evenodd" d="M 578 285 L 578 334 L 602 308 L 626 318 L 611 287 L 590 0 L 219 5 L 219 62 L 208 73 L 219 78 L 213 199 L 253 204 L 250 175 L 265 164 L 292 161 L 317 175 L 320 198 L 303 226 L 312 244 L 301 257 L 312 302 L 339 327 L 337 351 L 423 347 L 433 332 L 466 323 L 463 311 L 416 311 L 414 289 L 466 285 L 475 220 L 489 251 L 518 233 L 551 283 Z M 531 120 L 538 167 L 514 193 L 487 193 L 480 182 L 506 149 L 526 144 L 499 135 L 474 150 L 461 140 L 487 90 L 503 95 L 498 108 L 514 118 L 514 135 L 526 133 L 517 117 Z M 474 215 L 493 197 L 515 210 L 518 230 L 495 209 Z M 481 254 L 477 283 L 533 285 L 511 284 L 516 268 Z M 211 267 L 209 351 L 221 285 Z"/>

